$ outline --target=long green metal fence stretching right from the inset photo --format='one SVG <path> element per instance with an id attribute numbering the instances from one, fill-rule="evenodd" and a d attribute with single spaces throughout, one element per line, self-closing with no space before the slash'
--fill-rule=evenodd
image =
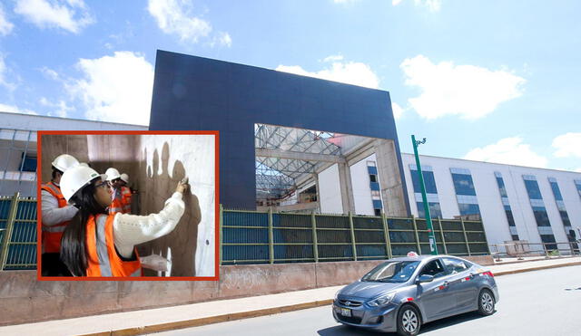
<path id="1" fill-rule="evenodd" d="M 429 254 L 421 218 L 220 212 L 221 264 L 279 264 L 386 259 Z M 480 221 L 434 221 L 438 253 L 490 254 Z"/>

